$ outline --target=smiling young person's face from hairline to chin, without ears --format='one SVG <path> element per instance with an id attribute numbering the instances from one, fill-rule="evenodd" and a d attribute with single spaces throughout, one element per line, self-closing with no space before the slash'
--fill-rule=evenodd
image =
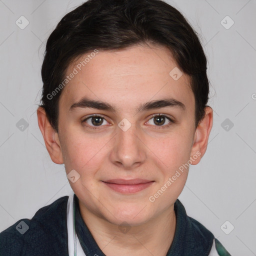
<path id="1" fill-rule="evenodd" d="M 82 206 L 111 223 L 172 209 L 187 178 L 180 166 L 197 158 L 194 96 L 187 75 L 170 73 L 176 66 L 165 47 L 133 46 L 88 52 L 66 73 L 76 73 L 59 100 L 66 173 L 75 170 L 69 183 Z"/>

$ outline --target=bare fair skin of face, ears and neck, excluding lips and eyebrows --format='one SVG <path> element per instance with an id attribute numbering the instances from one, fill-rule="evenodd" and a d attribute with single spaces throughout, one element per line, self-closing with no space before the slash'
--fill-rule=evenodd
<path id="1" fill-rule="evenodd" d="M 70 64 L 67 74 L 81 59 Z M 200 155 L 191 164 L 197 164 L 205 153 L 212 109 L 205 108 L 205 117 L 195 128 L 189 77 L 183 73 L 174 80 L 169 75 L 174 67 L 176 62 L 163 46 L 99 51 L 61 92 L 58 133 L 44 110 L 37 109 L 38 125 L 52 161 L 64 163 L 66 173 L 75 169 L 80 174 L 74 183 L 68 180 L 79 199 L 84 222 L 106 255 L 125 256 L 131 251 L 132 255 L 166 255 L 175 231 L 173 205 L 184 187 L 188 168 L 153 202 L 148 198 L 179 166 L 195 158 L 196 152 Z M 116 111 L 82 107 L 69 111 L 83 96 L 107 102 Z M 185 110 L 165 106 L 137 111 L 141 103 L 164 98 L 181 101 Z M 174 122 L 165 118 L 159 126 L 152 117 L 156 113 Z M 91 114 L 103 115 L 100 128 L 89 128 L 95 124 L 91 118 L 82 122 Z M 126 131 L 118 126 L 123 118 L 131 124 Z M 122 194 L 102 182 L 113 178 L 154 182 L 139 192 Z M 123 232 L 120 225 L 128 231 Z"/>

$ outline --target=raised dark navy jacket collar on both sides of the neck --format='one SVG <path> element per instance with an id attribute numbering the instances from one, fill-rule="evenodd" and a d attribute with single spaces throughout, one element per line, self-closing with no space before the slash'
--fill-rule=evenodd
<path id="1" fill-rule="evenodd" d="M 75 231 L 86 256 L 105 256 L 84 223 L 74 194 Z M 195 219 L 186 215 L 182 203 L 174 203 L 176 228 L 173 241 L 166 256 L 207 256 L 212 246 L 213 234 Z"/>

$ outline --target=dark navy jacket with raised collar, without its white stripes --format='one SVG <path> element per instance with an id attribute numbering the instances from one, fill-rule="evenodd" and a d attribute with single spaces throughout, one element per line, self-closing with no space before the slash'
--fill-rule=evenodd
<path id="1" fill-rule="evenodd" d="M 60 197 L 40 208 L 31 219 L 20 219 L 3 230 L 0 233 L 0 256 L 67 256 L 67 199 L 68 196 Z M 105 256 L 81 217 L 76 195 L 74 203 L 77 209 L 75 231 L 84 253 L 86 256 Z M 207 256 L 215 239 L 213 234 L 198 221 L 188 217 L 178 199 L 174 210 L 176 230 L 166 256 Z M 25 227 L 28 229 L 21 234 Z M 220 256 L 230 255 L 217 239 L 215 243 Z"/>

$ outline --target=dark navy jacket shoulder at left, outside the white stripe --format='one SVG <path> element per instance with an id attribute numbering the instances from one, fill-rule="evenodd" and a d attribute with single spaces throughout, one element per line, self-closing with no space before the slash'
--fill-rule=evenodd
<path id="1" fill-rule="evenodd" d="M 66 204 L 63 196 L 16 221 L 0 233 L 0 255 L 60 255 L 67 250 Z M 64 255 L 62 253 L 62 255 Z"/>

